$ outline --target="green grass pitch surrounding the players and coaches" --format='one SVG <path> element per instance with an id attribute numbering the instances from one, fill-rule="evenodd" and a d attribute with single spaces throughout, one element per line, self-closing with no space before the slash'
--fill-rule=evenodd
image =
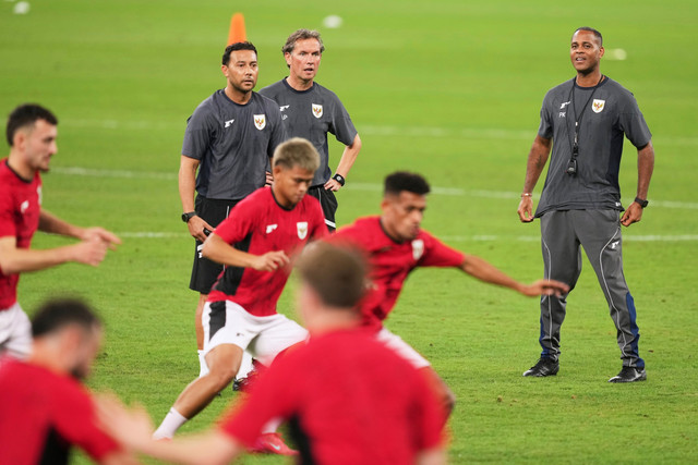
<path id="1" fill-rule="evenodd" d="M 59 120 L 44 207 L 99 224 L 124 244 L 97 269 L 67 265 L 21 280 L 27 313 L 55 295 L 95 304 L 107 341 L 91 386 L 143 403 L 159 421 L 198 372 L 192 240 L 177 170 L 185 120 L 225 85 L 219 60 L 242 11 L 260 50 L 257 89 L 286 74 L 280 47 L 298 27 L 325 40 L 317 82 L 344 101 L 363 150 L 339 194 L 338 222 L 378 211 L 396 169 L 435 187 L 425 229 L 521 281 L 542 274 L 538 222 L 516 217 L 545 91 L 574 76 L 576 27 L 604 34 L 604 74 L 630 89 L 653 133 L 650 206 L 624 230 L 648 381 L 609 384 L 615 329 L 588 261 L 569 298 L 561 371 L 524 379 L 540 352 L 538 303 L 454 270 L 420 270 L 387 326 L 422 352 L 458 397 L 452 463 L 690 463 L 698 458 L 698 60 L 694 1 L 32 1 L 0 3 L 0 112 L 37 101 Z M 337 14 L 340 28 L 323 28 Z M 617 50 L 626 52 L 625 60 Z M 336 167 L 341 147 L 330 144 Z M 621 183 L 635 196 L 636 150 Z M 543 180 L 539 182 L 540 193 Z M 37 234 L 34 247 L 65 244 Z M 292 315 L 292 281 L 279 309 Z M 224 392 L 183 432 L 207 427 Z M 77 460 L 83 463 L 85 460 Z M 242 463 L 282 463 L 245 456 Z"/>

